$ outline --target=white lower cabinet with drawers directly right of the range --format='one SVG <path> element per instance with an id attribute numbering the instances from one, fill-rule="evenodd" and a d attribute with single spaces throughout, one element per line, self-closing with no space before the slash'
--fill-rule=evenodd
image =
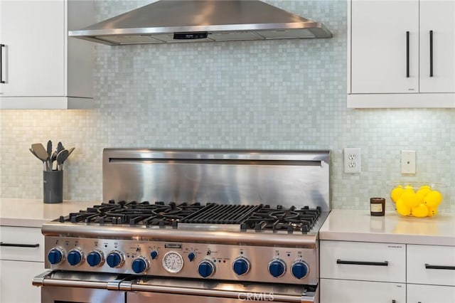
<path id="1" fill-rule="evenodd" d="M 405 303 L 406 245 L 321 241 L 321 303 Z"/>

